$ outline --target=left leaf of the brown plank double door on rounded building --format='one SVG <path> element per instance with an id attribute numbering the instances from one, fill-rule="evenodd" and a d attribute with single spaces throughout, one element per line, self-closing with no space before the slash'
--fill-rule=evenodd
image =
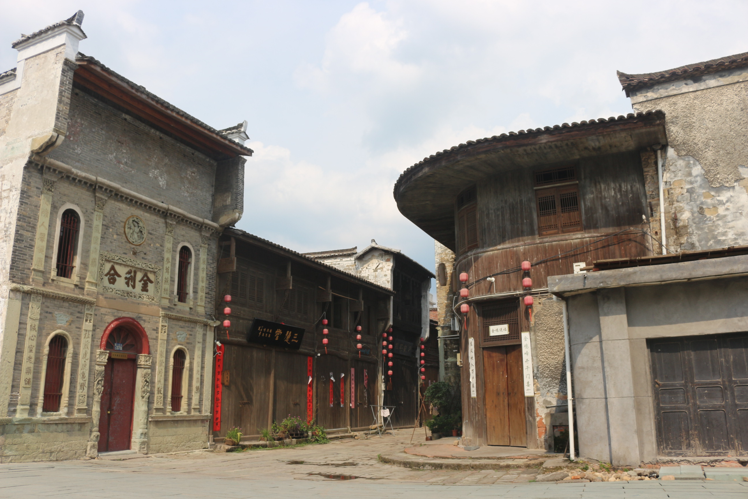
<path id="1" fill-rule="evenodd" d="M 509 445 L 506 346 L 483 349 L 485 426 L 488 445 Z"/>

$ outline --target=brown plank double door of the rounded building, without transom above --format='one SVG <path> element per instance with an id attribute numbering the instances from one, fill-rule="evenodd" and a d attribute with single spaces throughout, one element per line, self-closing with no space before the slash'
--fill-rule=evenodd
<path id="1" fill-rule="evenodd" d="M 527 445 L 521 345 L 483 349 L 488 445 Z"/>

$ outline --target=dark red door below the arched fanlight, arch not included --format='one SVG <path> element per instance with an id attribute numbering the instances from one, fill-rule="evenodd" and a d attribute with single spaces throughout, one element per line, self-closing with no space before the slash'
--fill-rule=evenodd
<path id="1" fill-rule="evenodd" d="M 135 359 L 110 358 L 106 363 L 99 416 L 99 452 L 130 448 L 135 370 Z"/>

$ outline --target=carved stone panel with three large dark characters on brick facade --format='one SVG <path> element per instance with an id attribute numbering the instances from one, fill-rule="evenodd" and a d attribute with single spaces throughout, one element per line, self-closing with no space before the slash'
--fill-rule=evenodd
<path id="1" fill-rule="evenodd" d="M 161 267 L 102 251 L 99 254 L 99 281 L 104 293 L 157 303 Z"/>

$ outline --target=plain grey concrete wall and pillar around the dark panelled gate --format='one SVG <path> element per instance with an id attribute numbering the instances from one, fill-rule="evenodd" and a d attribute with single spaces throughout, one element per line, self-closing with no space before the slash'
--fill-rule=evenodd
<path id="1" fill-rule="evenodd" d="M 745 278 L 619 287 L 568 297 L 580 456 L 657 459 L 646 340 L 748 331 Z"/>

